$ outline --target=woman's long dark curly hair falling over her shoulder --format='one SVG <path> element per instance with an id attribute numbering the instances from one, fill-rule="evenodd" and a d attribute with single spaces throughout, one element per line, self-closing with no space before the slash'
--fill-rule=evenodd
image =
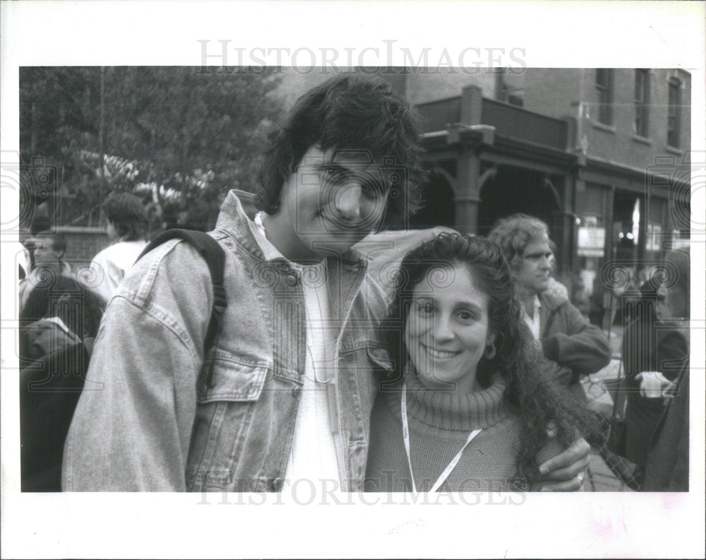
<path id="1" fill-rule="evenodd" d="M 489 330 L 496 333 L 496 355 L 481 358 L 477 380 L 486 388 L 496 374 L 505 379 L 505 403 L 522 424 L 515 483 L 532 484 L 539 477 L 537 454 L 548 440 L 550 422 L 556 424 L 556 437 L 564 446 L 576 438 L 577 431 L 589 436 L 595 428 L 590 415 L 554 381 L 556 364 L 544 358 L 522 319 L 510 266 L 500 246 L 483 237 L 443 232 L 407 253 L 382 328 L 390 357 L 399 366 L 395 381 L 401 379 L 409 360 L 401 341 L 414 288 L 430 271 L 448 271 L 455 265 L 467 266 L 477 289 L 488 297 Z"/>

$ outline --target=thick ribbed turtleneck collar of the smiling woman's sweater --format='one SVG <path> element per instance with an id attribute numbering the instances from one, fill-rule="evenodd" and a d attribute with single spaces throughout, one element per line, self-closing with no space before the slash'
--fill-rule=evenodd
<path id="1" fill-rule="evenodd" d="M 411 371 L 405 371 L 407 417 L 410 425 L 424 431 L 472 431 L 486 429 L 508 416 L 503 393 L 505 379 L 496 376 L 489 388 L 475 393 L 455 393 L 426 388 Z M 386 395 L 393 414 L 401 417 L 400 391 Z"/>

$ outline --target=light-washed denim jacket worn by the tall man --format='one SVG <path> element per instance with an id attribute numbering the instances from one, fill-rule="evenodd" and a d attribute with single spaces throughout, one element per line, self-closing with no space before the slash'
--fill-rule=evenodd
<path id="1" fill-rule="evenodd" d="M 232 192 L 211 235 L 226 252 L 220 337 L 204 356 L 213 287 L 193 247 L 172 240 L 140 259 L 97 335 L 64 447 L 65 491 L 281 489 L 304 381 L 302 278 L 282 258 L 265 260 Z M 355 492 L 373 370 L 390 366 L 375 334 L 383 296 L 353 251 L 327 265 L 340 322 L 332 431 L 342 490 Z"/>

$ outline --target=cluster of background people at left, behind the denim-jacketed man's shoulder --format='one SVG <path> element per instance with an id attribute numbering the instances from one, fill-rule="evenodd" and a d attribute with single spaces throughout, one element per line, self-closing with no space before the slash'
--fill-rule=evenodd
<path id="1" fill-rule="evenodd" d="M 22 488 L 61 489 L 64 439 L 84 389 L 92 345 L 107 302 L 147 244 L 143 203 L 114 193 L 102 204 L 110 245 L 76 274 L 64 234 L 48 220 L 32 222 L 20 270 L 20 441 Z M 26 265 L 25 265 L 26 266 Z"/>

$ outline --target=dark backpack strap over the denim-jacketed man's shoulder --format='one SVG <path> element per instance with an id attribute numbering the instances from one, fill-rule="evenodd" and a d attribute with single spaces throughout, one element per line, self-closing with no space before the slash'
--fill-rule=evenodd
<path id="1" fill-rule="evenodd" d="M 203 341 L 203 353 L 205 356 L 206 351 L 213 347 L 215 342 L 217 342 L 222 326 L 223 326 L 223 313 L 228 305 L 227 299 L 225 297 L 225 287 L 223 286 L 223 273 L 225 270 L 225 251 L 223 247 L 218 243 L 213 237 L 208 233 L 199 232 L 196 230 L 167 230 L 158 234 L 152 241 L 145 246 L 140 256 L 136 259 L 140 260 L 145 254 L 148 254 L 155 247 L 160 246 L 162 243 L 169 241 L 170 239 L 184 239 L 184 241 L 189 242 L 193 246 L 198 254 L 200 254 L 208 265 L 208 270 L 211 275 L 211 283 L 213 284 L 213 308 L 211 309 L 210 321 L 208 323 L 208 330 L 206 331 L 206 338 Z M 212 386 L 213 383 L 213 360 L 211 360 L 208 371 L 206 372 L 206 382 L 208 386 Z"/>

